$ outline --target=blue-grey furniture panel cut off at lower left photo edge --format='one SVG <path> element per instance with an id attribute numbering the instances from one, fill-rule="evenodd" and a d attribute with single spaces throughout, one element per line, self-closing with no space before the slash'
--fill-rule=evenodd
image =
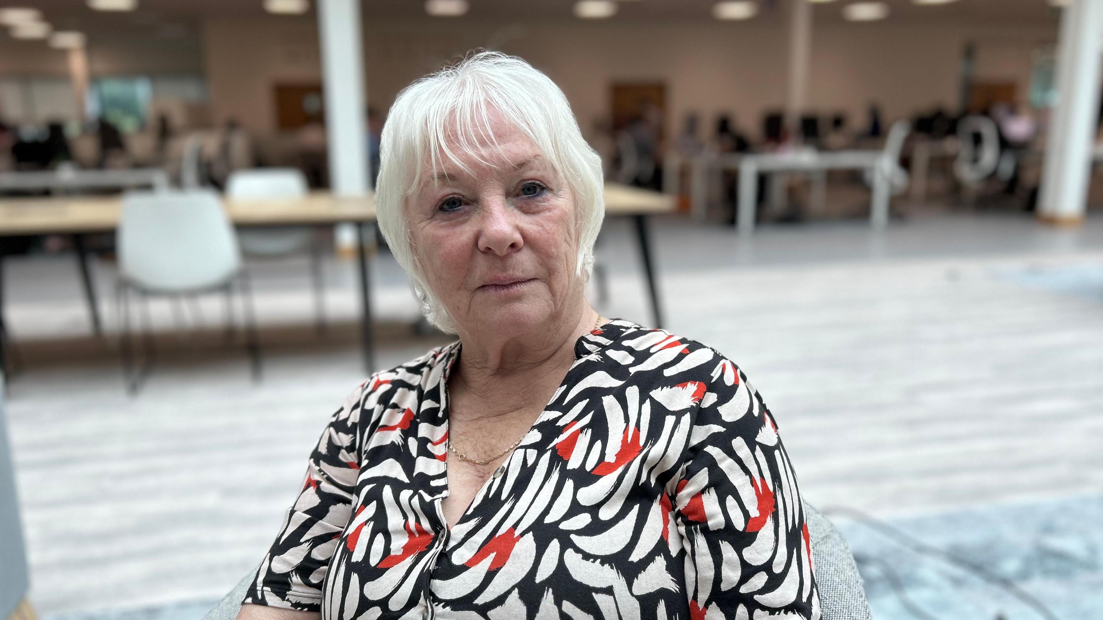
<path id="1" fill-rule="evenodd" d="M 0 370 L 0 618 L 8 618 L 26 596 L 30 579 L 3 402 L 3 371 Z"/>

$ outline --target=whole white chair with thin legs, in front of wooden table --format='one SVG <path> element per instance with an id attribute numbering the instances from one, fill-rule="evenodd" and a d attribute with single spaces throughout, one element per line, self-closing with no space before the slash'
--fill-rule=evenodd
<path id="1" fill-rule="evenodd" d="M 122 200 L 116 242 L 119 254 L 117 290 L 121 313 L 121 349 L 127 387 L 133 393 L 152 367 L 156 354 L 150 295 L 225 292 L 232 334 L 232 296 L 244 300 L 246 349 L 253 362 L 253 378 L 260 378 L 260 349 L 248 278 L 234 227 L 218 196 L 211 191 L 135 192 Z M 140 293 L 143 304 L 146 356 L 133 370 L 130 342 L 129 292 Z"/>

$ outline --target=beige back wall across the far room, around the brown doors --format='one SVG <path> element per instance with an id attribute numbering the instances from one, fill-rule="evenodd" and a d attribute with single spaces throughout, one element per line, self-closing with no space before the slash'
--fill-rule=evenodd
<path id="1" fill-rule="evenodd" d="M 667 86 L 668 122 L 698 111 L 711 126 L 735 114 L 757 133 L 759 117 L 784 103 L 786 30 L 778 20 L 748 23 L 545 22 L 488 24 L 418 20 L 365 23 L 367 98 L 386 109 L 410 81 L 468 50 L 520 55 L 563 87 L 589 132 L 609 108 L 609 85 L 655 81 Z M 961 57 L 977 44 L 978 79 L 1015 79 L 1029 88 L 1031 55 L 1057 36 L 1056 23 L 965 25 L 817 24 L 810 106 L 864 122 L 870 101 L 888 119 L 942 105 L 956 109 Z M 216 120 L 255 129 L 275 125 L 272 84 L 319 81 L 318 34 L 310 19 L 206 22 L 206 75 Z"/>

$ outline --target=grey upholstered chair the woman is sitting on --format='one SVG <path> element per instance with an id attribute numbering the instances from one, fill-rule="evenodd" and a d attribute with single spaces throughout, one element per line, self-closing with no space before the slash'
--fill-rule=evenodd
<path id="1" fill-rule="evenodd" d="M 804 504 L 804 512 L 820 586 L 822 620 L 870 620 L 861 577 L 846 541 L 820 511 Z M 256 575 L 257 569 L 254 568 L 203 620 L 234 620 L 245 590 Z"/>

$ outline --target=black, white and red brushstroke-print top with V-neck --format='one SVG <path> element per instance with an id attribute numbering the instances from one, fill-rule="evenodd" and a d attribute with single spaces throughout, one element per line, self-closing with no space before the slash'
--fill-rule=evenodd
<path id="1" fill-rule="evenodd" d="M 614 320 L 448 527 L 449 344 L 333 414 L 244 602 L 326 620 L 817 619 L 796 477 L 747 376 Z"/>

